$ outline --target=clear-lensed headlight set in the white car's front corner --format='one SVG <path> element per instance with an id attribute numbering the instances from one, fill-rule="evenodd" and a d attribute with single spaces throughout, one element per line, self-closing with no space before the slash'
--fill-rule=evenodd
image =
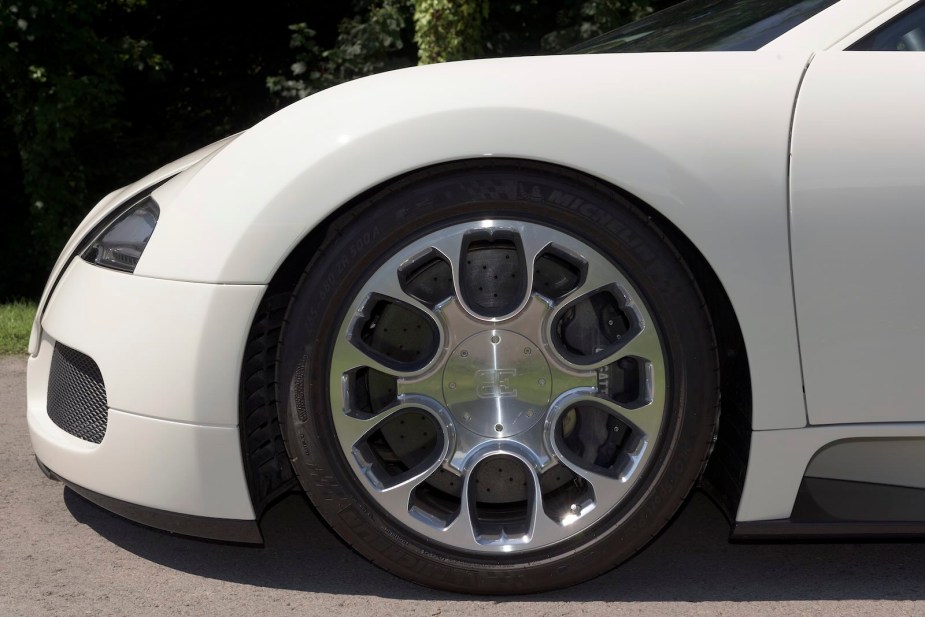
<path id="1" fill-rule="evenodd" d="M 134 272 L 160 213 L 157 203 L 145 197 L 103 227 L 80 256 L 104 268 Z"/>

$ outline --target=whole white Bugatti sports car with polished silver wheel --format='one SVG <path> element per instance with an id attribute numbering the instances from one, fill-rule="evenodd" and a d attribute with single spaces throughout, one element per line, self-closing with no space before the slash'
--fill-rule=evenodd
<path id="1" fill-rule="evenodd" d="M 921 534 L 916 51 L 925 1 L 689 0 L 294 104 L 74 233 L 30 343 L 40 466 L 243 542 L 304 490 L 478 593 L 606 571 L 697 485 L 734 538 Z"/>

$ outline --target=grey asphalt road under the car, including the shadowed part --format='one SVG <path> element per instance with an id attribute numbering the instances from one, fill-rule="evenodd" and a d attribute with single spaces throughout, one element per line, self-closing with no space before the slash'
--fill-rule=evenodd
<path id="1" fill-rule="evenodd" d="M 25 360 L 0 357 L 0 615 L 922 615 L 925 544 L 732 545 L 703 496 L 622 567 L 566 591 L 480 598 L 405 583 L 340 544 L 300 496 L 264 548 L 134 525 L 46 480 Z"/>

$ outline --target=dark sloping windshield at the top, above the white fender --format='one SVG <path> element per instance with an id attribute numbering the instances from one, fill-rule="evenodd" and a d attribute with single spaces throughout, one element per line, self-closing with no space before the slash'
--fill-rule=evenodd
<path id="1" fill-rule="evenodd" d="M 754 51 L 838 0 L 688 0 L 565 53 Z"/>

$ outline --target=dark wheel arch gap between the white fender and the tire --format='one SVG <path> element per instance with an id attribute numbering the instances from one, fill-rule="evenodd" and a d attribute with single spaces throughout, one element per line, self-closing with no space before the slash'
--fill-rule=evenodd
<path id="1" fill-rule="evenodd" d="M 308 230 L 282 259 L 267 285 L 248 337 L 242 371 L 240 423 L 242 449 L 248 486 L 258 516 L 280 495 L 295 488 L 294 474 L 279 434 L 278 418 L 261 412 L 255 422 L 248 401 L 255 397 L 275 410 L 276 397 L 270 389 L 277 385 L 276 344 L 281 331 L 285 304 L 307 271 L 319 245 L 330 232 L 334 221 L 367 198 L 408 179 L 422 180 L 449 172 L 488 166 L 529 165 L 551 174 L 581 176 L 602 187 L 618 192 L 655 221 L 657 228 L 681 255 L 700 286 L 701 294 L 713 322 L 720 355 L 720 389 L 722 414 L 718 437 L 711 456 L 701 470 L 701 485 L 732 521 L 744 486 L 752 426 L 751 378 L 748 358 L 736 312 L 715 270 L 703 253 L 668 218 L 657 209 L 606 180 L 573 168 L 526 158 L 461 159 L 438 163 L 383 180 L 333 210 L 318 225 Z M 274 340 L 275 337 L 275 340 Z M 270 356 L 273 356 L 272 358 Z M 248 362 L 250 361 L 250 365 Z M 261 376 L 255 378 L 255 372 Z M 272 399 L 272 400 L 271 400 Z M 248 426 L 253 426 L 248 430 Z M 261 454 L 255 456 L 255 452 Z"/>

